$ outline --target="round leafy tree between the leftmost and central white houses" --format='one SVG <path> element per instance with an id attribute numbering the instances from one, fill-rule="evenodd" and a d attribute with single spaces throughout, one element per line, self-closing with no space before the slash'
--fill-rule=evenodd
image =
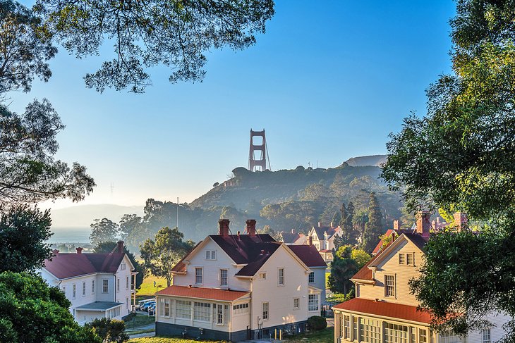
<path id="1" fill-rule="evenodd" d="M 171 268 L 193 249 L 192 242 L 183 242 L 183 238 L 183 233 L 177 227 L 163 227 L 154 240 L 149 238 L 140 245 L 145 270 L 149 270 L 152 275 L 166 278 L 166 287 L 171 285 Z"/>

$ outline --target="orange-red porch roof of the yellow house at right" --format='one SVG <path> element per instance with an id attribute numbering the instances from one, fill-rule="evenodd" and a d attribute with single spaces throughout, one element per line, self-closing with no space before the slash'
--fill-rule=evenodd
<path id="1" fill-rule="evenodd" d="M 373 301 L 361 298 L 354 298 L 345 301 L 333 308 L 341 310 L 365 313 L 370 316 L 382 316 L 400 320 L 410 320 L 417 323 L 429 324 L 431 316 L 425 311 L 419 311 L 416 306 L 389 303 L 386 301 Z"/>

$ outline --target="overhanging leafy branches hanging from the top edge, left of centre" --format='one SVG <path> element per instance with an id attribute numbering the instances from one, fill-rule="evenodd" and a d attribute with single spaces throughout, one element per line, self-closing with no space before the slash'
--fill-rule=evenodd
<path id="1" fill-rule="evenodd" d="M 246 49 L 265 32 L 272 0 L 257 1 L 73 1 L 38 0 L 35 9 L 65 49 L 78 58 L 97 55 L 114 43 L 114 58 L 85 76 L 86 86 L 143 92 L 145 68 L 171 68 L 171 82 L 201 81 L 205 51 Z"/>

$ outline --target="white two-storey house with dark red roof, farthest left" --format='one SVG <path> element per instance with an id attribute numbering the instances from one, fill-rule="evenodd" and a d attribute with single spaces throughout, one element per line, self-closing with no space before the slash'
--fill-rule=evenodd
<path id="1" fill-rule="evenodd" d="M 123 242 L 109 254 L 73 254 L 54 250 L 40 273 L 50 286 L 59 287 L 71 301 L 70 312 L 78 323 L 95 318 L 121 319 L 133 309 L 135 275 Z M 131 304 L 132 303 L 132 304 Z"/>

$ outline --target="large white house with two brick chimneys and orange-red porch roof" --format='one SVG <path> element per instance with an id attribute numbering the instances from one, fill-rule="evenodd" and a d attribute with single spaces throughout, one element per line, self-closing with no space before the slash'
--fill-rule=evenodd
<path id="1" fill-rule="evenodd" d="M 247 235 L 230 235 L 226 219 L 219 226 L 174 266 L 174 285 L 157 292 L 156 335 L 238 342 L 277 328 L 303 332 L 320 315 L 323 289 L 310 265 L 325 263 L 315 247 L 292 251 L 257 235 L 255 220 L 247 220 Z"/>

